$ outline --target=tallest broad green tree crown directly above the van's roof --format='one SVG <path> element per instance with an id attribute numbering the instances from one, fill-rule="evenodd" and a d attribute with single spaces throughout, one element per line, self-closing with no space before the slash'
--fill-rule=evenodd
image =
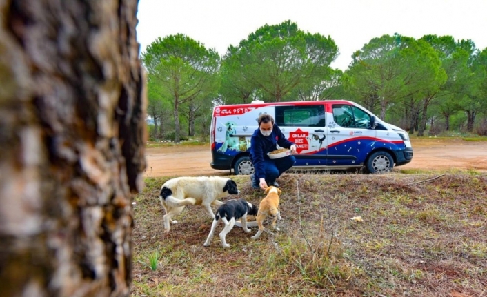
<path id="1" fill-rule="evenodd" d="M 230 45 L 222 61 L 221 94 L 227 103 L 251 99 L 282 101 L 306 82 L 321 82 L 332 74 L 338 54 L 330 37 L 298 29 L 296 23 L 264 25 Z"/>

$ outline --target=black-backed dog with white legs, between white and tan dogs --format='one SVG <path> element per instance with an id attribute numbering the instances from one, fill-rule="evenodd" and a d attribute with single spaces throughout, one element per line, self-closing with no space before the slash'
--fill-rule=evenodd
<path id="1" fill-rule="evenodd" d="M 208 238 L 206 238 L 204 246 L 208 247 L 208 245 L 210 245 L 213 235 L 215 234 L 215 228 L 220 221 L 223 221 L 225 227 L 220 232 L 221 245 L 223 247 L 230 247 L 230 245 L 226 243 L 225 238 L 226 234 L 232 231 L 233 226 L 235 226 L 235 220 L 241 218 L 242 228 L 245 232 L 250 233 L 251 230 L 247 228 L 247 216 L 257 216 L 258 212 L 259 209 L 257 206 L 242 198 L 229 200 L 226 203 L 223 203 L 217 209 L 215 219 L 211 225 L 210 234 L 208 234 Z"/>

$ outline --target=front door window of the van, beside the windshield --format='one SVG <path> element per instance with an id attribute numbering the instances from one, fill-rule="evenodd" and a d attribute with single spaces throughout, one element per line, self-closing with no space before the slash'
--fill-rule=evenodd
<path id="1" fill-rule="evenodd" d="M 341 127 L 362 129 L 370 127 L 370 115 L 352 105 L 333 105 L 333 121 Z"/>

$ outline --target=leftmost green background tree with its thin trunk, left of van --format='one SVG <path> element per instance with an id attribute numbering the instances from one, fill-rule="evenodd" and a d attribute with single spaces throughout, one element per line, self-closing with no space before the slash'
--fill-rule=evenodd
<path id="1" fill-rule="evenodd" d="M 181 140 L 181 105 L 190 105 L 191 111 L 197 106 L 193 101 L 211 99 L 219 88 L 219 54 L 214 49 L 207 50 L 201 43 L 183 34 L 160 37 L 141 54 L 148 72 L 152 104 L 172 105 L 175 125 L 175 142 Z M 193 114 L 193 115 L 196 115 Z M 189 116 L 189 125 L 194 125 L 194 116 Z"/>

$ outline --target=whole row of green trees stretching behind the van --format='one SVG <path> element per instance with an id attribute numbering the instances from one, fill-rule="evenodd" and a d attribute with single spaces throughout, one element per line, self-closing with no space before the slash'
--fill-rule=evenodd
<path id="1" fill-rule="evenodd" d="M 347 99 L 418 136 L 487 135 L 487 48 L 470 40 L 399 34 L 373 38 L 343 72 L 331 37 L 296 23 L 264 25 L 223 57 L 190 37 L 159 37 L 141 54 L 148 72 L 150 136 L 208 136 L 222 104 Z"/>

